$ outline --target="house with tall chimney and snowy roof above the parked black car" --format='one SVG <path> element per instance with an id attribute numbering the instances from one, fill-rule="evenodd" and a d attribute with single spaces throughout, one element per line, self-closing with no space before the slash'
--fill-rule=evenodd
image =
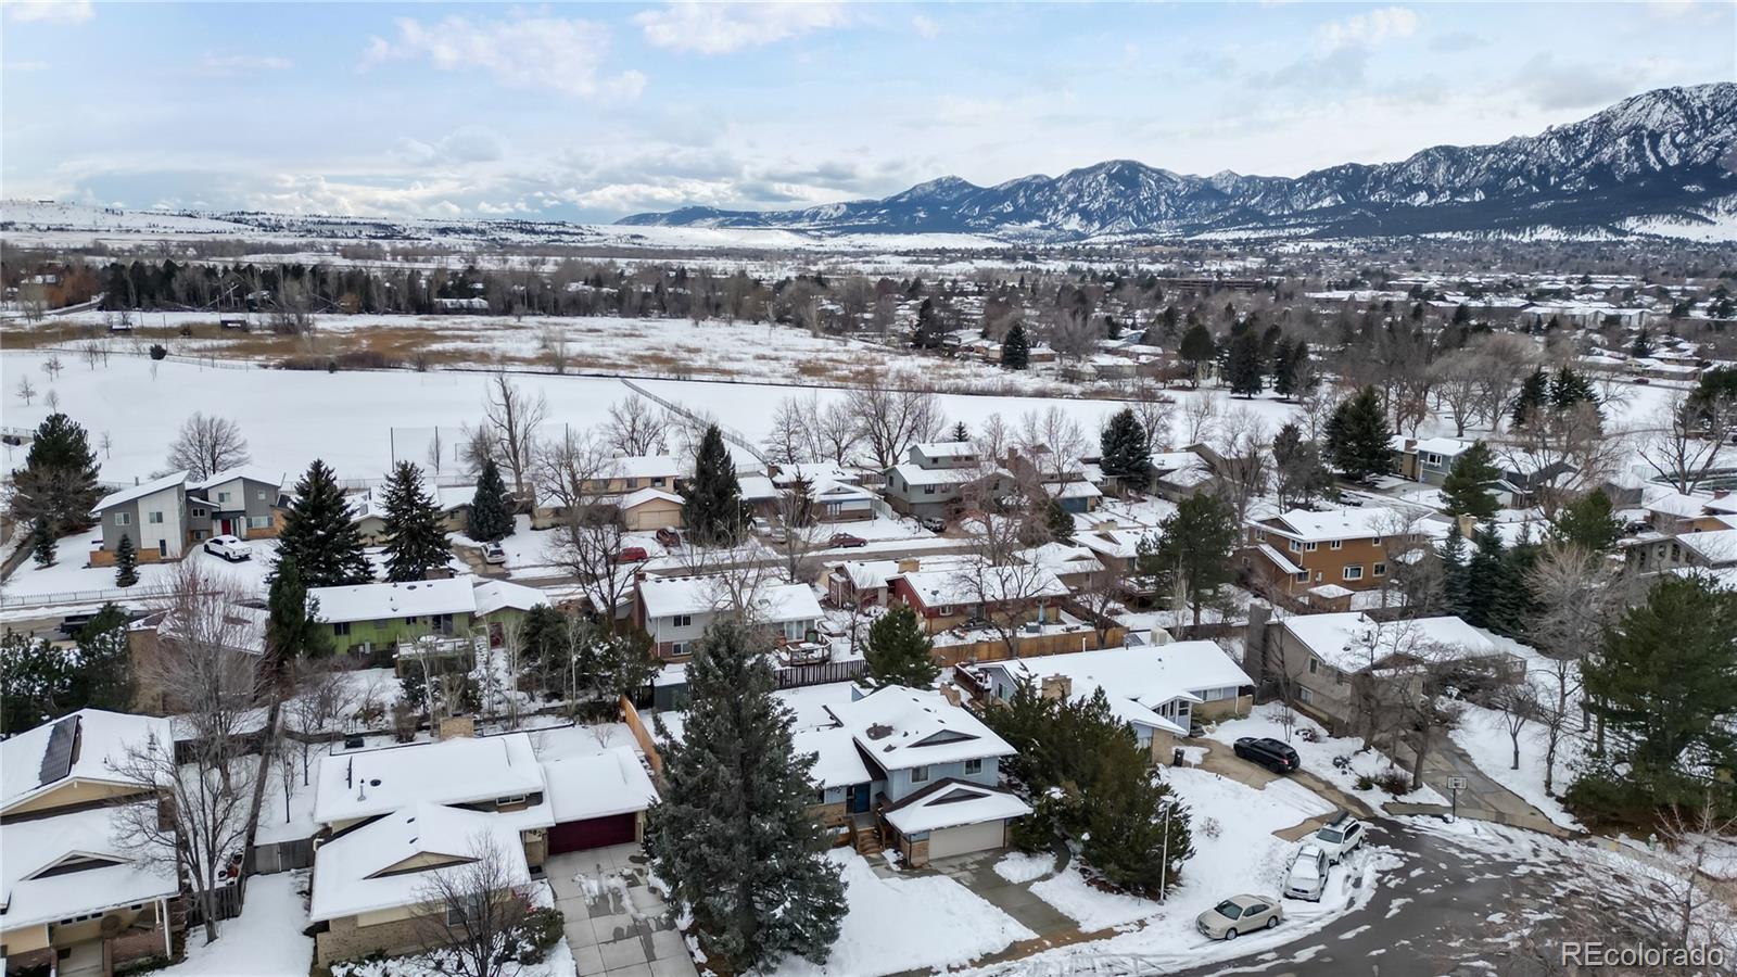
<path id="1" fill-rule="evenodd" d="M 1263 666 L 1278 694 L 1334 732 L 1357 723 L 1369 681 L 1403 680 L 1407 664 L 1485 659 L 1501 676 L 1523 675 L 1509 643 L 1452 615 L 1379 622 L 1360 612 L 1306 614 L 1268 624 L 1265 640 Z"/>

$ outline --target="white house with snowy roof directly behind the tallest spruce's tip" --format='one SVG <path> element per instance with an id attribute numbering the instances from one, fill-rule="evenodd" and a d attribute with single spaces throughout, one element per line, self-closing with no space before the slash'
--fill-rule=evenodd
<path id="1" fill-rule="evenodd" d="M 752 621 L 775 633 L 780 647 L 808 645 L 823 617 L 808 584 L 763 588 Z M 690 645 L 731 607 L 728 582 L 719 577 L 643 579 L 634 595 L 634 621 L 651 638 L 660 659 L 686 659 Z"/>

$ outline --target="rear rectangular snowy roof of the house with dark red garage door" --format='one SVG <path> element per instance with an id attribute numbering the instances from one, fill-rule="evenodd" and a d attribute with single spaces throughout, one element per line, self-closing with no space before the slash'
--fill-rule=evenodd
<path id="1" fill-rule="evenodd" d="M 320 758 L 314 821 L 334 824 L 424 801 L 478 803 L 542 789 L 542 767 L 521 732 L 334 753 Z"/>

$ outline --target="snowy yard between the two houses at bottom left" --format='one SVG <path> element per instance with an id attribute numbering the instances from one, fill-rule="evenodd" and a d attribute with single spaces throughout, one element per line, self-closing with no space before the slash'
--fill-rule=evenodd
<path id="1" fill-rule="evenodd" d="M 314 961 L 307 928 L 307 873 L 259 874 L 247 883 L 247 904 L 234 920 L 219 923 L 217 942 L 205 930 L 188 928 L 188 958 L 160 970 L 167 977 L 306 977 Z"/>

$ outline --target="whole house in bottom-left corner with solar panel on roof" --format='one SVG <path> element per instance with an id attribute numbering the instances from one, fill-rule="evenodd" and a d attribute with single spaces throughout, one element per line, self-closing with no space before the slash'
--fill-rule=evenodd
<path id="1" fill-rule="evenodd" d="M 168 720 L 80 709 L 0 742 L 0 946 L 7 974 L 108 977 L 174 953 L 174 866 L 118 838 L 156 788 L 123 772 L 174 749 Z"/>

